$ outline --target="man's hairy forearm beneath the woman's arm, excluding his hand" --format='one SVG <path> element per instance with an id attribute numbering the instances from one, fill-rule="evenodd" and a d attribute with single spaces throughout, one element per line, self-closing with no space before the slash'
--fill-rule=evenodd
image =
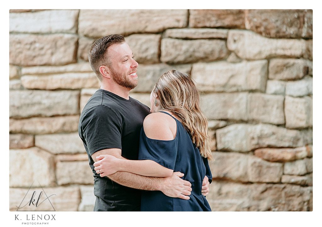
<path id="1" fill-rule="evenodd" d="M 148 191 L 161 191 L 162 177 L 141 176 L 129 172 L 118 171 L 107 176 L 118 184 Z"/>

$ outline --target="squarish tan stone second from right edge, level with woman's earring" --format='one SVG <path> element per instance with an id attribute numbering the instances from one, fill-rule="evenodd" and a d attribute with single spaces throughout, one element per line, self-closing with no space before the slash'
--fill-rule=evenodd
<path id="1" fill-rule="evenodd" d="M 284 124 L 284 96 L 250 93 L 248 118 L 262 123 Z"/>

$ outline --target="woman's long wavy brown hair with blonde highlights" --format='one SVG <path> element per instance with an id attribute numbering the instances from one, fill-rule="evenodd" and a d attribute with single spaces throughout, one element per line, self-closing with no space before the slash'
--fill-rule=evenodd
<path id="1" fill-rule="evenodd" d="M 190 76 L 176 70 L 165 72 L 156 82 L 153 93 L 160 100 L 158 109 L 175 114 L 190 133 L 201 156 L 213 160 L 207 118 L 201 111 L 200 93 Z"/>

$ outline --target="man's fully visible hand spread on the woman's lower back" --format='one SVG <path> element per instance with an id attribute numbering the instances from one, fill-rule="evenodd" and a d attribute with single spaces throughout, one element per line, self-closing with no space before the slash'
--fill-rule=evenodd
<path id="1" fill-rule="evenodd" d="M 172 176 L 164 177 L 160 191 L 170 197 L 190 199 L 188 195 L 191 195 L 191 183 L 180 178 L 183 176 L 183 173 L 174 172 Z"/>

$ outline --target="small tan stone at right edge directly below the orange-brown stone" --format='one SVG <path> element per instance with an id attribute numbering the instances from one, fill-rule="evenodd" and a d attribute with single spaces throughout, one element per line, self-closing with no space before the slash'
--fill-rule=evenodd
<path id="1" fill-rule="evenodd" d="M 312 172 L 312 158 L 299 159 L 284 164 L 284 174 L 305 175 Z"/>

